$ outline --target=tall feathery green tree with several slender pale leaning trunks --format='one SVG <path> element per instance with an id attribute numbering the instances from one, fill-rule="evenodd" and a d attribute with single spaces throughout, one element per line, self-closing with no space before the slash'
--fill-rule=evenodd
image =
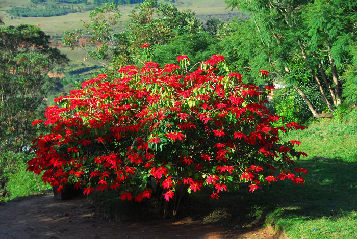
<path id="1" fill-rule="evenodd" d="M 348 45 L 355 41 L 357 2 L 353 0 L 226 0 L 228 6 L 245 11 L 245 22 L 254 39 L 237 48 L 241 56 L 255 58 L 250 68 L 266 67 L 294 86 L 316 118 L 319 113 L 301 88 L 301 75 L 315 82 L 330 112 L 342 103 L 340 82 L 343 65 L 351 58 Z M 247 33 L 245 33 L 247 34 Z M 248 34 L 247 34 L 248 35 Z M 247 36 L 243 37 L 247 39 Z M 258 39 L 258 40 L 257 40 Z M 240 41 L 240 40 L 238 40 Z M 254 48 L 252 48 L 253 46 Z"/>

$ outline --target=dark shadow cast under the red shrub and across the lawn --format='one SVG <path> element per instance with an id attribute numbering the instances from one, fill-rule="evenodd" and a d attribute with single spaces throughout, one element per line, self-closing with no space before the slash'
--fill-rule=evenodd
<path id="1" fill-rule="evenodd" d="M 311 158 L 301 160 L 300 165 L 308 170 L 303 186 L 286 180 L 262 185 L 262 190 L 250 193 L 243 184 L 238 191 L 220 193 L 219 200 L 210 198 L 212 190 L 202 190 L 183 199 L 176 217 L 246 228 L 266 222 L 274 224 L 278 220 L 338 218 L 357 210 L 357 162 L 344 162 L 337 158 Z M 107 218 L 115 218 L 118 214 L 130 214 L 129 220 L 160 217 L 155 202 L 139 206 L 119 201 L 118 195 L 112 199 L 106 195 L 106 203 L 102 201 L 103 196 L 94 201 L 101 201 L 99 210 L 104 211 Z"/>

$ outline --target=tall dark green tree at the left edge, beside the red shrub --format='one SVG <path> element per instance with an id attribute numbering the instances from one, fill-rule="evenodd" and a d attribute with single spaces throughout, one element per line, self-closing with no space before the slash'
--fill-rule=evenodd
<path id="1" fill-rule="evenodd" d="M 37 134 L 31 122 L 54 81 L 47 73 L 66 62 L 38 26 L 0 27 L 0 178 Z"/>

